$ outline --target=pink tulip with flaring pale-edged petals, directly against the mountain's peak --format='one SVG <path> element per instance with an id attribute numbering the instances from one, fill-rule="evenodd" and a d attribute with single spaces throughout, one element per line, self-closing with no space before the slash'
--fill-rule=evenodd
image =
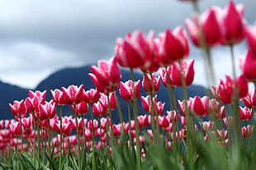
<path id="1" fill-rule="evenodd" d="M 110 62 L 100 60 L 97 67 L 91 67 L 92 73 L 89 73 L 89 76 L 99 92 L 111 93 L 117 89 L 121 72 L 116 62 L 116 57 L 112 57 Z"/>

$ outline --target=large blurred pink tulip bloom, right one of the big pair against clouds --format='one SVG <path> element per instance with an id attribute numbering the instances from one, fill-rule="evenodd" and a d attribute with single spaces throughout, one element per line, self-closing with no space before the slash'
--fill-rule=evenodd
<path id="1" fill-rule="evenodd" d="M 168 67 L 173 62 L 187 58 L 189 53 L 187 34 L 181 26 L 175 30 L 165 30 L 159 34 L 158 62 L 161 67 Z"/>

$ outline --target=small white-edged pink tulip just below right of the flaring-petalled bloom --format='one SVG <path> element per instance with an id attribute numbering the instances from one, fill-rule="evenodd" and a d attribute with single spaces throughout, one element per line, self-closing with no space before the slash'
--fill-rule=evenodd
<path id="1" fill-rule="evenodd" d="M 140 97 L 140 80 L 127 80 L 125 83 L 120 82 L 119 92 L 121 98 L 127 101 L 134 101 Z"/>

